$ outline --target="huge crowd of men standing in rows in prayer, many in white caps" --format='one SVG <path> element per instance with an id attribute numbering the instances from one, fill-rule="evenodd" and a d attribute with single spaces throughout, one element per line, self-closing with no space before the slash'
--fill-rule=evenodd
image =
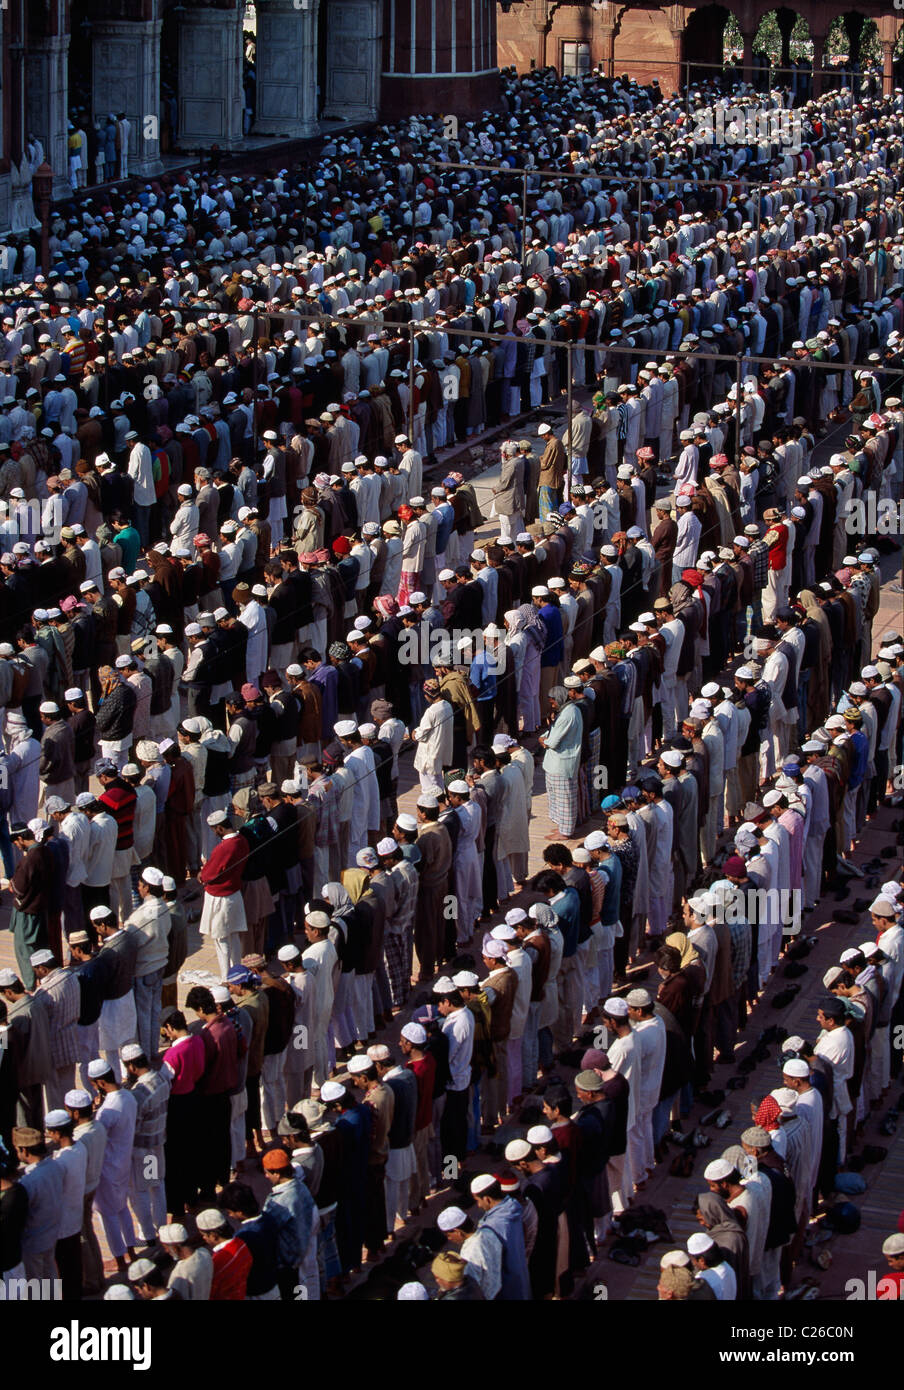
<path id="1" fill-rule="evenodd" d="M 567 1295 L 862 876 L 901 97 L 802 115 L 719 149 L 531 74 L 455 145 L 72 203 L 49 277 L 6 247 L 4 1282 L 100 1293 L 100 1230 L 111 1300 L 339 1295 L 453 1186 L 399 1297 Z M 576 177 L 524 228 L 520 175 L 442 170 L 488 147 Z M 516 417 L 478 505 L 437 450 Z M 791 1286 L 900 1072 L 886 873 L 661 1297 Z"/>

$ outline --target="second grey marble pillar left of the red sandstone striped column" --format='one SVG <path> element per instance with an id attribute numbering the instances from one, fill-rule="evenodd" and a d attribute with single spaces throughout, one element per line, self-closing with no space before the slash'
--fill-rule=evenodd
<path id="1" fill-rule="evenodd" d="M 257 0 L 255 135 L 317 133 L 317 8 L 307 0 Z"/>

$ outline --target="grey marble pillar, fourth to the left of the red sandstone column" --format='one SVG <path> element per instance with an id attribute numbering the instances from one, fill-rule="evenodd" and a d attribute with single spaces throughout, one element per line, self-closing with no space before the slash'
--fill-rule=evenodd
<path id="1" fill-rule="evenodd" d="M 160 174 L 160 19 L 103 19 L 93 25 L 92 115 L 103 126 L 125 111 L 131 125 L 128 171 Z M 104 178 L 110 178 L 106 172 Z"/>

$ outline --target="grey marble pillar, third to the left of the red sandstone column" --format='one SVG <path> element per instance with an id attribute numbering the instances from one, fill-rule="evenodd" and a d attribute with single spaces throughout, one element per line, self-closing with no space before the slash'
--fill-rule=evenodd
<path id="1" fill-rule="evenodd" d="M 184 150 L 242 139 L 242 11 L 186 10 L 179 24 L 179 129 Z"/>

